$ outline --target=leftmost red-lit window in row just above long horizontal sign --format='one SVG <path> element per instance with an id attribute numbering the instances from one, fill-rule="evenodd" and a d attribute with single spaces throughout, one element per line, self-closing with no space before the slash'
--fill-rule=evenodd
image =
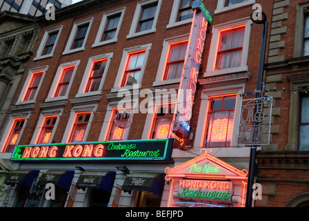
<path id="1" fill-rule="evenodd" d="M 19 139 L 21 129 L 23 128 L 23 124 L 25 123 L 26 117 L 14 119 L 12 122 L 12 127 L 8 133 L 8 137 L 6 138 L 6 142 L 2 148 L 1 152 L 13 152 L 14 146 L 17 144 L 17 140 Z"/>

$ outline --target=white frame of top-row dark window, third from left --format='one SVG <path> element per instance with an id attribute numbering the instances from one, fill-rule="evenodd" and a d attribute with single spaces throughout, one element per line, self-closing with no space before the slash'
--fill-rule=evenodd
<path id="1" fill-rule="evenodd" d="M 118 41 L 118 34 L 119 34 L 119 30 L 120 30 L 121 23 L 123 21 L 123 17 L 124 17 L 125 12 L 126 12 L 126 7 L 123 7 L 123 8 L 119 8 L 117 10 L 112 10 L 111 12 L 106 12 L 106 13 L 103 14 L 101 24 L 100 24 L 99 30 L 97 32 L 97 37 L 94 40 L 94 44 L 92 44 L 92 48 L 97 47 L 97 46 L 103 46 L 105 44 L 110 44 L 112 42 Z M 120 19 L 119 19 L 118 27 L 117 27 L 116 33 L 114 35 L 114 38 L 109 39 L 107 41 L 101 41 L 103 32 L 104 32 L 106 25 L 108 23 L 108 17 L 111 17 L 111 16 L 119 14 L 119 13 L 121 13 L 121 16 L 120 16 Z"/>

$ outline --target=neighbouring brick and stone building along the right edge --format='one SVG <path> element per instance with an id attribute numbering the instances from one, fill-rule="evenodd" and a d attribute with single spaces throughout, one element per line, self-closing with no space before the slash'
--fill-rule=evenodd
<path id="1" fill-rule="evenodd" d="M 308 1 L 274 1 L 266 64 L 272 140 L 258 154 L 257 206 L 308 206 Z"/>

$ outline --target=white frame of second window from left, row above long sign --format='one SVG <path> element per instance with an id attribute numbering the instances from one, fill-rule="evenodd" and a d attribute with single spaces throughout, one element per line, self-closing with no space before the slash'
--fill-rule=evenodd
<path id="1" fill-rule="evenodd" d="M 54 128 L 52 129 L 52 134 L 50 135 L 50 141 L 48 144 L 52 143 L 52 139 L 54 138 L 54 133 L 56 133 L 57 126 L 59 124 L 59 120 L 61 118 L 63 109 L 54 109 L 53 111 L 48 111 L 48 112 L 42 112 L 41 115 L 39 116 L 39 121 L 37 122 L 37 127 L 35 128 L 35 131 L 33 133 L 32 139 L 30 144 L 34 144 L 37 140 L 37 136 L 41 132 L 41 126 L 43 124 L 44 117 L 52 116 L 52 115 L 58 115 L 56 123 L 54 124 Z"/>

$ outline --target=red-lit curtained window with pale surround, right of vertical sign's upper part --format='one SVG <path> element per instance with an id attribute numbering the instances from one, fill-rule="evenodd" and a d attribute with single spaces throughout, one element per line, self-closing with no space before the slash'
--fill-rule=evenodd
<path id="1" fill-rule="evenodd" d="M 237 19 L 212 26 L 212 38 L 204 77 L 248 71 L 252 20 Z"/>

